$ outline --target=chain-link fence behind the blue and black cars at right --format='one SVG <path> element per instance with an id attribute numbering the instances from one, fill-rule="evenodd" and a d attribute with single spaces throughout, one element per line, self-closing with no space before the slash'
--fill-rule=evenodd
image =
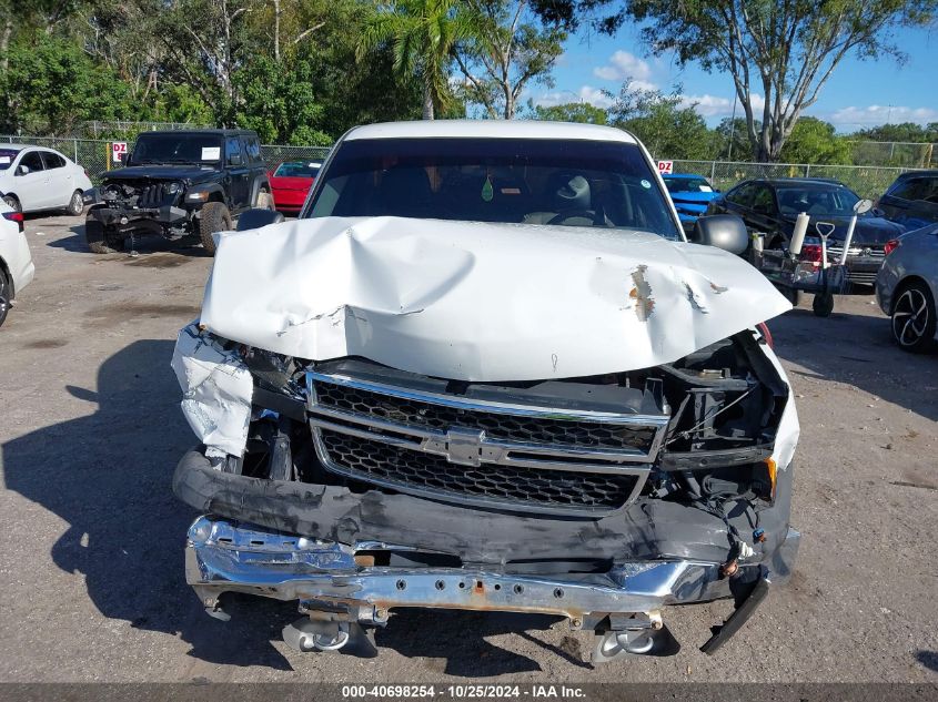
<path id="1" fill-rule="evenodd" d="M 867 165 L 811 165 L 809 163 L 728 163 L 724 161 L 674 161 L 675 173 L 696 173 L 725 191 L 750 177 L 828 177 L 840 181 L 860 197 L 875 200 L 900 173 L 914 169 Z"/>

